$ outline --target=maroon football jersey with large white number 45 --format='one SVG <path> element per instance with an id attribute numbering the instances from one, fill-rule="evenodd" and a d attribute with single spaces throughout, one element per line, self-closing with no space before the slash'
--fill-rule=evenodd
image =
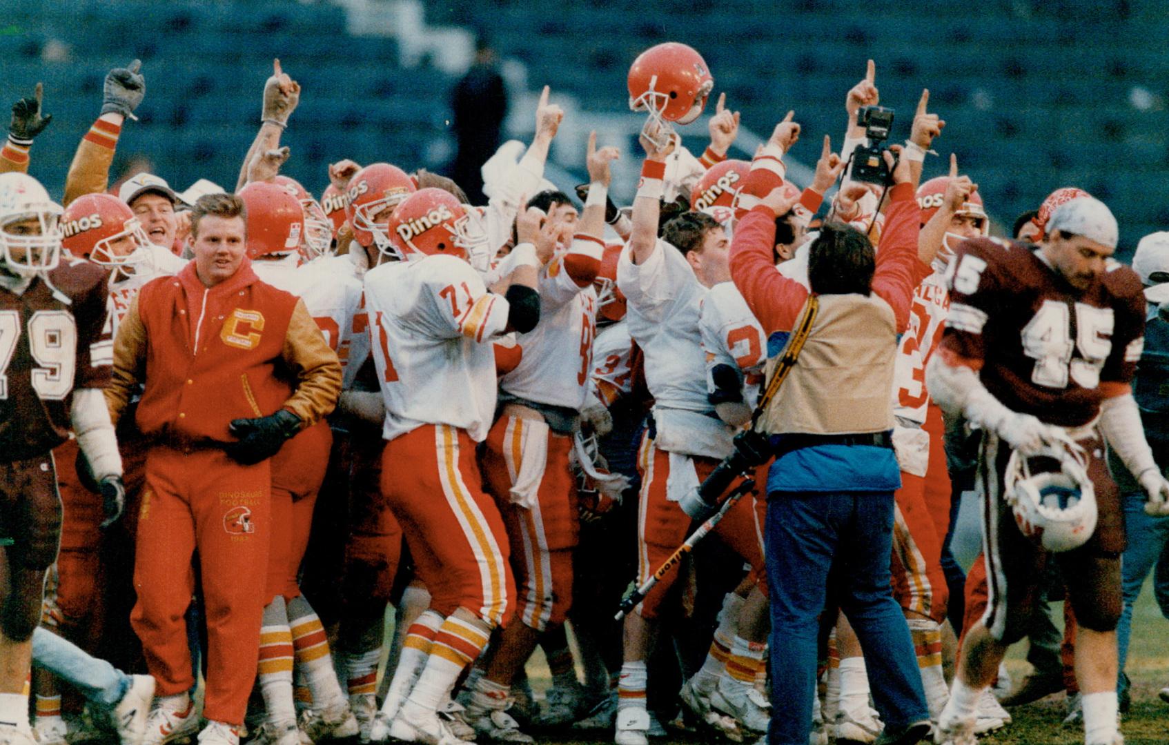
<path id="1" fill-rule="evenodd" d="M 1128 384 L 1141 356 L 1144 295 L 1109 260 L 1082 292 L 1029 243 L 966 241 L 947 270 L 942 348 L 982 360 L 981 380 L 1014 411 L 1079 426 L 1100 411 L 1101 382 Z"/>

